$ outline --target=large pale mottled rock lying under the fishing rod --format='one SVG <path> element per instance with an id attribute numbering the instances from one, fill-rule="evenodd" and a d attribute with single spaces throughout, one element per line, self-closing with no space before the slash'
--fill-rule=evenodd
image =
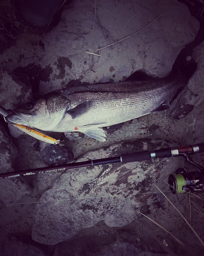
<path id="1" fill-rule="evenodd" d="M 155 139 L 123 142 L 89 152 L 78 162 L 172 145 Z M 41 196 L 42 203 L 35 206 L 33 240 L 57 244 L 101 220 L 111 227 L 124 226 L 140 217 L 138 211 L 150 214 L 155 201 L 147 194 L 151 185 L 160 176 L 172 173 L 179 161 L 182 160 L 167 158 L 67 170 Z"/>

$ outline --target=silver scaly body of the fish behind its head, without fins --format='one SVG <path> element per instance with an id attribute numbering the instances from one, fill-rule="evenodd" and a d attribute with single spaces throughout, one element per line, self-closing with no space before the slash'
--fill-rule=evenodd
<path id="1" fill-rule="evenodd" d="M 131 120 L 154 111 L 174 91 L 183 86 L 181 76 L 169 76 L 149 81 L 124 81 L 121 83 L 93 84 L 60 90 L 71 101 L 71 109 L 84 101 L 91 107 L 83 114 L 71 118 L 66 114 L 56 130 L 70 127 L 96 125 L 109 126 Z M 79 129 L 80 130 L 80 129 Z"/>

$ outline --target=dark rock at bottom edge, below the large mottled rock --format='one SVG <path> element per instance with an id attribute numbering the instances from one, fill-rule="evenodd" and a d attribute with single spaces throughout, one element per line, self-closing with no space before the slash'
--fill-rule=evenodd
<path id="1" fill-rule="evenodd" d="M 124 229 L 118 228 L 113 233 L 102 235 L 103 238 L 95 236 L 94 233 L 87 237 L 82 237 L 79 234 L 56 245 L 55 256 L 64 255 L 65 253 L 66 256 L 161 256 L 162 253 L 165 253 L 164 251 L 161 252 L 161 247 L 157 242 L 152 241 L 150 234 L 146 234 L 148 240 L 145 241 L 143 236 L 138 237 L 141 232 L 137 225 L 132 223 L 132 227 L 134 229 L 130 226 Z"/>

